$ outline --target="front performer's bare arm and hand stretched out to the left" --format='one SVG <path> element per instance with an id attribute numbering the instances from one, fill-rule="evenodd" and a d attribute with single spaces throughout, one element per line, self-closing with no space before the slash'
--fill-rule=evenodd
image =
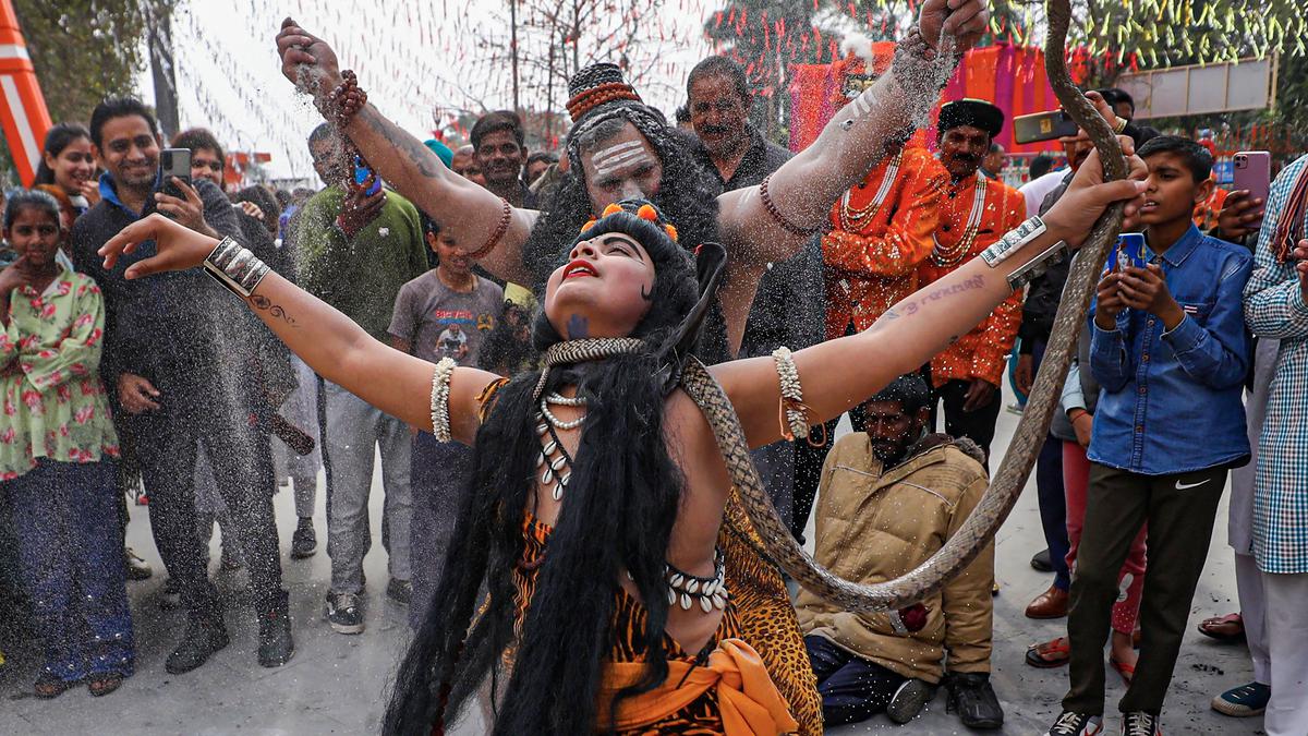
<path id="1" fill-rule="evenodd" d="M 123 228 L 99 254 L 112 268 L 118 257 L 153 240 L 158 254 L 127 268 L 127 279 L 181 271 L 204 263 L 218 241 L 162 215 Z M 233 296 L 233 299 L 237 299 Z M 250 309 L 310 368 L 377 409 L 413 427 L 432 431 L 432 376 L 436 367 L 378 342 L 332 306 L 268 272 L 246 300 Z M 481 390 L 498 378 L 475 368 L 456 368 L 450 380 L 450 428 L 454 439 L 472 444 Z"/>

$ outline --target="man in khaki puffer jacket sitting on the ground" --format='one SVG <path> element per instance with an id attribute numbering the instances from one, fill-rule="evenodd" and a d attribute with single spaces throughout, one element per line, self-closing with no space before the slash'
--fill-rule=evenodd
<path id="1" fill-rule="evenodd" d="M 880 583 L 913 570 L 985 492 L 980 448 L 926 433 L 930 403 L 921 376 L 900 376 L 863 405 L 867 431 L 845 435 L 827 456 L 815 504 L 815 557 L 841 578 Z M 827 726 L 883 710 L 908 723 L 943 676 L 950 711 L 971 728 L 999 728 L 1003 710 L 990 688 L 993 583 L 991 542 L 922 601 L 925 626 L 905 626 L 897 614 L 848 613 L 800 591 L 795 608 Z"/>

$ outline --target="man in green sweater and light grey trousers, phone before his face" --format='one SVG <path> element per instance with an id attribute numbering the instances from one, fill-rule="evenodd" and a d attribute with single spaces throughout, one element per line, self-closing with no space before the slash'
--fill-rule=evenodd
<path id="1" fill-rule="evenodd" d="M 305 203 L 293 227 L 301 285 L 374 338 L 387 340 L 400 287 L 428 270 L 417 210 L 394 191 L 368 194 L 371 175 L 356 183 L 354 161 L 341 152 L 327 124 L 309 136 L 309 151 L 327 187 Z M 371 546 L 368 496 L 378 445 L 386 492 L 382 546 L 390 557 L 386 595 L 404 604 L 409 598 L 409 435 L 403 422 L 345 389 L 331 382 L 322 389 L 332 567 L 326 616 L 336 631 L 358 634 L 364 630 L 364 557 Z"/>

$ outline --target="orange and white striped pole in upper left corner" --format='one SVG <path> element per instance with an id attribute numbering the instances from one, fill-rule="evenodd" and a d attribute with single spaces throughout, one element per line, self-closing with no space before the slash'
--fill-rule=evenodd
<path id="1" fill-rule="evenodd" d="M 0 126 L 22 186 L 31 186 L 41 164 L 41 147 L 50 130 L 50 111 L 27 56 L 10 0 L 0 0 Z"/>

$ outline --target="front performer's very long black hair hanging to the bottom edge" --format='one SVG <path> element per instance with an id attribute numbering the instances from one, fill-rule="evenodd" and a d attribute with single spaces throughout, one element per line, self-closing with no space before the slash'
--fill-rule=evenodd
<path id="1" fill-rule="evenodd" d="M 443 575 L 400 665 L 385 733 L 428 733 L 433 723 L 453 723 L 488 673 L 493 691 L 504 694 L 496 733 L 572 736 L 611 723 L 611 714 L 596 712 L 596 694 L 624 568 L 649 614 L 647 672 L 630 693 L 653 689 L 667 677 L 663 564 L 683 478 L 663 437 L 663 368 L 667 354 L 685 344 L 687 317 L 702 312 L 698 280 L 712 279 L 705 279 L 702 263 L 697 279 L 691 255 L 662 223 L 634 213 L 640 204 L 623 203 L 621 212 L 570 238 L 620 232 L 645 248 L 655 268 L 654 287 L 650 309 L 632 337 L 651 350 L 549 375 L 545 390 L 576 384 L 586 397 L 586 423 L 508 686 L 498 688 L 497 678 L 514 634 L 513 570 L 522 559 L 523 523 L 538 474 L 532 393 L 539 372 L 505 385 L 477 432 L 473 471 Z M 542 316 L 536 347 L 560 339 Z"/>

